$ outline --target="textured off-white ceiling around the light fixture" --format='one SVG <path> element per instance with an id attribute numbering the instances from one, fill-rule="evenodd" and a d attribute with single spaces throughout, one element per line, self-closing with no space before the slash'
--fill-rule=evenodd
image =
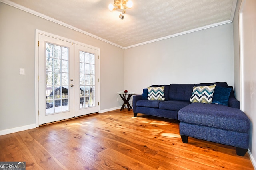
<path id="1" fill-rule="evenodd" d="M 3 0 L 2 0 L 3 1 Z M 7 1 L 8 0 L 4 0 Z M 133 0 L 124 20 L 114 0 L 10 0 L 127 48 L 216 23 L 231 22 L 236 0 Z"/>

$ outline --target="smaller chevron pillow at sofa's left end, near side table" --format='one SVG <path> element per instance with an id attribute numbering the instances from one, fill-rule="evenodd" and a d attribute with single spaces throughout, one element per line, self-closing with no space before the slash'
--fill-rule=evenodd
<path id="1" fill-rule="evenodd" d="M 147 87 L 148 100 L 164 100 L 164 86 Z"/>

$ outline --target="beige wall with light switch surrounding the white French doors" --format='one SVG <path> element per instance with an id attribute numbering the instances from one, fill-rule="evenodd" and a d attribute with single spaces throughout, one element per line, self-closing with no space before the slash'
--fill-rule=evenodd
<path id="1" fill-rule="evenodd" d="M 35 123 L 36 29 L 100 48 L 101 110 L 120 107 L 124 49 L 0 2 L 0 131 Z"/>

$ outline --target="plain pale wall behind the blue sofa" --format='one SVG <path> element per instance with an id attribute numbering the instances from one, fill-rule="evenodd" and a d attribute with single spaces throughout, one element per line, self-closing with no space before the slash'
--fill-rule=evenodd
<path id="1" fill-rule="evenodd" d="M 124 50 L 124 87 L 227 82 L 234 86 L 233 25 L 228 23 Z"/>

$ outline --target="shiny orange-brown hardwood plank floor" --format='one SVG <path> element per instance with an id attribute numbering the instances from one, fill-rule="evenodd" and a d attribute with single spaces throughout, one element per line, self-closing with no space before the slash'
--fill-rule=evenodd
<path id="1" fill-rule="evenodd" d="M 127 109 L 89 115 L 0 136 L 0 161 L 26 170 L 252 170 L 248 153 L 188 137 L 178 121 Z"/>

